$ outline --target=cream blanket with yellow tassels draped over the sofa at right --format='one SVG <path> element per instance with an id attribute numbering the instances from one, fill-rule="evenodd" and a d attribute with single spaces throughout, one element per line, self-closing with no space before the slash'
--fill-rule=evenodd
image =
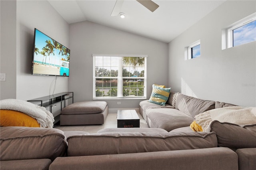
<path id="1" fill-rule="evenodd" d="M 195 118 L 196 123 L 206 132 L 210 131 L 210 124 L 214 120 L 243 126 L 256 123 L 256 107 L 223 107 L 205 111 L 196 115 Z"/>

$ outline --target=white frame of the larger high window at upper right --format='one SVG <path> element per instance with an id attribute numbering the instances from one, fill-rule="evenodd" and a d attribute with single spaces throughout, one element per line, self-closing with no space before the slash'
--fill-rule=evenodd
<path id="1" fill-rule="evenodd" d="M 233 44 L 233 30 L 240 28 L 242 26 L 245 26 L 246 24 L 249 24 L 250 22 L 253 22 L 256 20 L 256 12 L 233 23 L 232 25 L 228 26 L 227 28 L 222 29 L 222 49 L 227 49 L 234 47 Z M 243 43 L 245 44 L 245 43 Z M 242 45 L 242 44 L 240 44 Z"/>

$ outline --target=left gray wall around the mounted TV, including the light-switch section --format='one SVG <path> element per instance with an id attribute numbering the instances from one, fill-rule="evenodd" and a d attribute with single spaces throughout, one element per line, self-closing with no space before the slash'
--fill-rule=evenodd
<path id="1" fill-rule="evenodd" d="M 31 75 L 34 28 L 68 47 L 69 25 L 48 1 L 1 1 L 1 73 L 6 73 L 1 99 L 29 100 L 53 92 L 55 77 Z M 59 77 L 55 93 L 64 91 L 68 77 Z"/>

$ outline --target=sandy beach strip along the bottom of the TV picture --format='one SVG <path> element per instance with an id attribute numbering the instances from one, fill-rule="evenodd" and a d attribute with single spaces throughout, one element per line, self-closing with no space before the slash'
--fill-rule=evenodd
<path id="1" fill-rule="evenodd" d="M 34 64 L 33 74 L 60 75 L 60 68 L 53 65 Z"/>

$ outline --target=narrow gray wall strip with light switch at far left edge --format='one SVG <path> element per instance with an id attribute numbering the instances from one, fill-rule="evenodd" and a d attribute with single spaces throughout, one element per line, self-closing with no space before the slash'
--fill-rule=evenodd
<path id="1" fill-rule="evenodd" d="M 0 72 L 6 81 L 0 81 L 0 99 L 16 99 L 16 1 L 0 1 Z"/>

